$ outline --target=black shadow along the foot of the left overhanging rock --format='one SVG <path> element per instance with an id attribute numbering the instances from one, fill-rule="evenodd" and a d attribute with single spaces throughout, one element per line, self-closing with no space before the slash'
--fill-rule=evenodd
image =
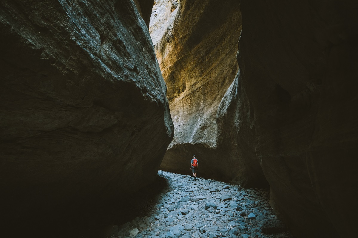
<path id="1" fill-rule="evenodd" d="M 67 204 L 48 213 L 26 214 L 8 218 L 2 223 L 5 233 L 12 237 L 100 238 L 116 235 L 118 226 L 136 217 L 154 212 L 160 191 L 168 181 L 157 175 L 154 183 L 135 193 L 124 194 L 108 201 L 90 204 Z"/>

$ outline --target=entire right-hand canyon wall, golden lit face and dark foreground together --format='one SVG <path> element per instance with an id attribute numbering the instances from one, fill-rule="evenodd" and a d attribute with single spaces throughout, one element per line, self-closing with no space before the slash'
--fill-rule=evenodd
<path id="1" fill-rule="evenodd" d="M 357 3 L 240 4 L 238 71 L 238 2 L 180 1 L 154 41 L 175 125 L 161 169 L 189 174 L 195 153 L 199 176 L 269 184 L 297 237 L 353 237 Z"/>

